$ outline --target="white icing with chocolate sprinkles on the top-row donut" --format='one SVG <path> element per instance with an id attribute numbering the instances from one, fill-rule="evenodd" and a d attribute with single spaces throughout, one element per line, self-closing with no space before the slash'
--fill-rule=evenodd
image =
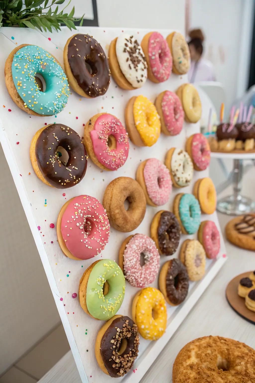
<path id="1" fill-rule="evenodd" d="M 147 63 L 134 36 L 122 33 L 116 41 L 116 56 L 125 78 L 134 88 L 141 88 L 147 79 Z"/>

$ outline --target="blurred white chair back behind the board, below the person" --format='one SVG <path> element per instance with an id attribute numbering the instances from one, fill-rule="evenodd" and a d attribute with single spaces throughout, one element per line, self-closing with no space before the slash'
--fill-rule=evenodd
<path id="1" fill-rule="evenodd" d="M 224 102 L 226 105 L 226 93 L 222 83 L 217 81 L 199 81 L 194 85 L 199 85 L 199 87 L 203 89 L 203 91 L 211 99 L 216 109 L 216 113 L 219 115 L 221 103 Z"/>

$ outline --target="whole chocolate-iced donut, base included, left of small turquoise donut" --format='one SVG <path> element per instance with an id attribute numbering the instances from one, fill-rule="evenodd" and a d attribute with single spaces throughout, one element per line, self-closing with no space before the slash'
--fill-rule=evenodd
<path id="1" fill-rule="evenodd" d="M 179 246 L 180 225 L 171 211 L 160 210 L 151 221 L 151 238 L 159 254 L 173 255 Z"/>

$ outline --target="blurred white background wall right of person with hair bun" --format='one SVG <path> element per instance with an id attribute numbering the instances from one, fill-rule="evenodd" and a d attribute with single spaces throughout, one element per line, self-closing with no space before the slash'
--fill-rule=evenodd
<path id="1" fill-rule="evenodd" d="M 205 33 L 205 58 L 213 62 L 216 79 L 225 87 L 226 110 L 237 97 L 239 70 L 247 70 L 239 67 L 246 2 L 249 0 L 190 0 L 190 29 L 199 27 Z"/>

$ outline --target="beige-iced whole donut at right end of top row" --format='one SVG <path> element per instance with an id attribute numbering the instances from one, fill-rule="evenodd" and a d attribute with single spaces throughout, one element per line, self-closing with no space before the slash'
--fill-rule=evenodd
<path id="1" fill-rule="evenodd" d="M 166 38 L 173 58 L 173 72 L 182 75 L 190 69 L 190 50 L 180 32 L 172 32 Z"/>

